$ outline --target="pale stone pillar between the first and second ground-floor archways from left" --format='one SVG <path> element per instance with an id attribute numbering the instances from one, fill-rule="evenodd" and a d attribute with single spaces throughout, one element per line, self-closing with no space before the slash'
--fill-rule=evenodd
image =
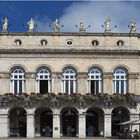
<path id="1" fill-rule="evenodd" d="M 27 138 L 35 137 L 34 114 L 27 114 Z"/>

